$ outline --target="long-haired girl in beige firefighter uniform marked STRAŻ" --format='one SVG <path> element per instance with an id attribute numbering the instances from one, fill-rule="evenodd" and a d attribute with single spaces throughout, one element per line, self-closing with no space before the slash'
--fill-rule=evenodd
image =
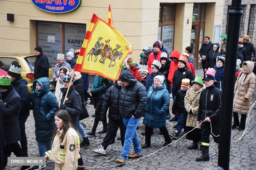
<path id="1" fill-rule="evenodd" d="M 55 162 L 54 170 L 76 170 L 80 158 L 80 142 L 66 110 L 55 113 L 55 124 L 53 146 L 52 150 L 45 153 L 46 160 Z"/>

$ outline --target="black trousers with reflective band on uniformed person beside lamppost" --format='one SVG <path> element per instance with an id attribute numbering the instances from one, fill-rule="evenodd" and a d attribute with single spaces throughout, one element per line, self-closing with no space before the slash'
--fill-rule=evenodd
<path id="1" fill-rule="evenodd" d="M 212 123 L 212 129 L 211 129 L 211 123 Z M 219 144 L 219 134 L 220 134 L 220 122 L 206 122 L 204 121 L 201 124 L 201 142 L 202 145 L 209 146 L 210 143 L 210 134 L 213 137 L 213 140 L 216 144 Z M 212 130 L 212 133 L 211 133 Z M 214 136 L 214 135 L 215 136 Z M 218 136 L 218 137 L 216 137 Z"/>

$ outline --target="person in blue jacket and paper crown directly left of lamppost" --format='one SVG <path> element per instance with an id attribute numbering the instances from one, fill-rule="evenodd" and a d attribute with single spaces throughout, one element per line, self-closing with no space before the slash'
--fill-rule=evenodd
<path id="1" fill-rule="evenodd" d="M 223 77 L 224 77 L 224 63 L 225 63 L 225 58 L 224 57 L 217 57 L 217 62 L 216 65 L 213 67 L 215 69 L 215 80 L 219 81 L 219 89 L 223 88 Z"/>

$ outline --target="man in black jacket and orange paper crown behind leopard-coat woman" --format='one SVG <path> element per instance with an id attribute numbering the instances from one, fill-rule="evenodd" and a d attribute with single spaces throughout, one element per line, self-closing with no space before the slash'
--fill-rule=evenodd
<path id="1" fill-rule="evenodd" d="M 183 60 L 182 60 L 183 59 Z M 172 79 L 172 88 L 173 88 L 173 93 L 175 96 L 178 95 L 178 90 L 181 88 L 181 81 L 183 78 L 188 78 L 190 80 L 190 85 L 193 86 L 191 83 L 192 80 L 195 79 L 192 71 L 190 71 L 187 66 L 186 66 L 186 60 L 187 57 L 180 57 L 179 62 L 178 62 L 178 69 L 175 70 L 174 76 Z"/>

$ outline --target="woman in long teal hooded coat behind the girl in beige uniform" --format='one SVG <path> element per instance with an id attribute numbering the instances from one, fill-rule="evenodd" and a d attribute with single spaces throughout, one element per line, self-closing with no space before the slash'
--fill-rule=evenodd
<path id="1" fill-rule="evenodd" d="M 38 144 L 39 157 L 52 148 L 52 137 L 55 129 L 54 114 L 59 110 L 55 95 L 49 90 L 49 78 L 41 77 L 33 82 L 34 94 L 31 107 L 35 120 L 35 140 Z"/>

